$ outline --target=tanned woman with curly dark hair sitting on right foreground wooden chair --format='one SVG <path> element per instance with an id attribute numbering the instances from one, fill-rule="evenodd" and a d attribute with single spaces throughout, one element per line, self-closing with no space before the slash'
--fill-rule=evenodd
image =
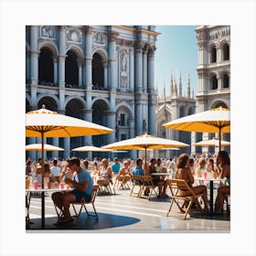
<path id="1" fill-rule="evenodd" d="M 192 176 L 190 168 L 187 166 L 189 163 L 189 155 L 187 154 L 181 154 L 179 155 L 177 159 L 177 171 L 176 171 L 176 178 L 178 179 L 185 179 L 187 181 L 187 184 L 193 192 L 198 194 L 203 194 L 202 198 L 204 201 L 204 212 L 208 212 L 208 194 L 207 194 L 207 187 L 204 185 L 193 187 L 194 184 L 194 176 Z M 190 196 L 190 192 L 188 190 L 179 190 L 179 194 L 181 196 Z"/>

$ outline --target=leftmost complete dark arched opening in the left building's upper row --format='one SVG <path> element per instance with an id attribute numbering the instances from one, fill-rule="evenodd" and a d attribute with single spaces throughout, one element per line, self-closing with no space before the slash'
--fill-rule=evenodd
<path id="1" fill-rule="evenodd" d="M 38 83 L 51 85 L 53 83 L 53 59 L 49 48 L 41 48 L 38 59 Z"/>

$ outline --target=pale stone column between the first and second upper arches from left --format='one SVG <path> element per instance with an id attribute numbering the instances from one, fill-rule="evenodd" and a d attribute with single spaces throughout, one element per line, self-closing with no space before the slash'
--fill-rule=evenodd
<path id="1" fill-rule="evenodd" d="M 59 27 L 59 88 L 65 88 L 65 59 L 66 59 L 65 26 Z"/>

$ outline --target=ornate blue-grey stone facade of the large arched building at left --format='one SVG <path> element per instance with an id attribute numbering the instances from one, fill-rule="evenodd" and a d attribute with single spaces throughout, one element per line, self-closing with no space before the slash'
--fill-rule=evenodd
<path id="1" fill-rule="evenodd" d="M 65 148 L 64 153 L 49 153 L 48 158 L 74 155 L 70 150 L 80 145 L 101 146 L 143 132 L 156 133 L 157 36 L 153 26 L 26 27 L 26 111 L 46 104 L 49 110 L 115 131 L 48 138 L 48 144 Z M 27 144 L 36 141 L 27 138 Z M 34 153 L 27 156 L 36 158 Z"/>

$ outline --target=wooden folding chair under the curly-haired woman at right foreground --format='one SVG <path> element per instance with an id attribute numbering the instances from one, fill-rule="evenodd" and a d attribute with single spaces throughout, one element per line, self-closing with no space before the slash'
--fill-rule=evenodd
<path id="1" fill-rule="evenodd" d="M 167 211 L 166 216 L 176 215 L 182 216 L 184 219 L 187 219 L 188 212 L 191 209 L 192 203 L 194 202 L 197 209 L 203 214 L 203 209 L 201 208 L 200 204 L 198 203 L 198 197 L 202 197 L 203 194 L 195 194 L 191 187 L 188 186 L 187 181 L 184 179 L 167 179 L 166 180 L 168 187 L 171 191 L 171 204 Z M 180 195 L 180 190 L 189 191 L 189 196 L 182 196 Z M 174 203 L 176 203 L 177 208 L 179 211 L 174 211 L 172 208 L 174 207 Z"/>

